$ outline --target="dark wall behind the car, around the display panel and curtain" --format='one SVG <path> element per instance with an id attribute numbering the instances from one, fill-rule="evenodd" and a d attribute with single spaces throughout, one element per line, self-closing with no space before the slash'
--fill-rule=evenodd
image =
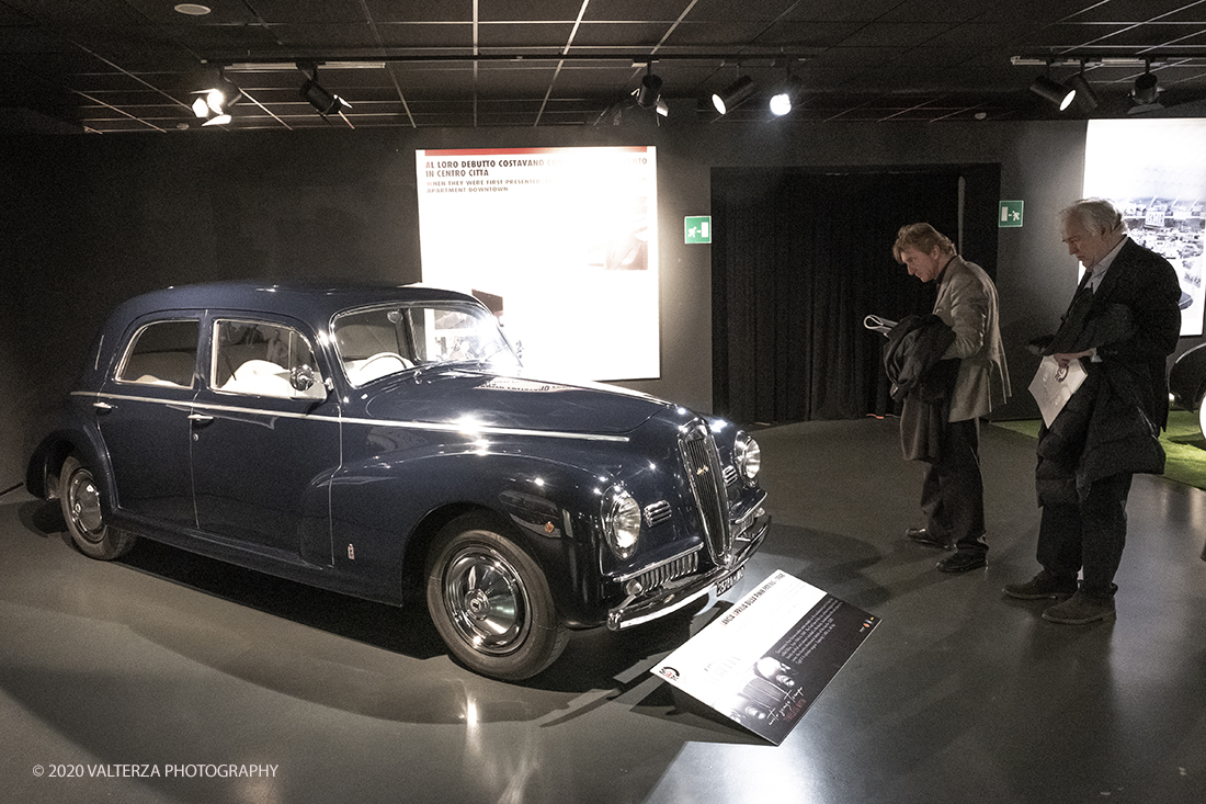
<path id="1" fill-rule="evenodd" d="M 1075 285 L 1055 212 L 1079 194 L 1084 130 L 1084 122 L 678 123 L 0 139 L 0 491 L 23 479 L 48 406 L 70 389 L 93 332 L 123 298 L 234 276 L 418 280 L 416 148 L 655 145 L 662 375 L 625 385 L 703 410 L 712 404 L 710 247 L 684 245 L 681 232 L 684 216 L 709 214 L 714 167 L 1000 163 L 1002 198 L 1024 199 L 1026 222 L 1000 233 L 1014 384 L 1002 414 L 1034 415 L 1025 389 L 1036 361 L 1023 344 L 1052 327 Z"/>

